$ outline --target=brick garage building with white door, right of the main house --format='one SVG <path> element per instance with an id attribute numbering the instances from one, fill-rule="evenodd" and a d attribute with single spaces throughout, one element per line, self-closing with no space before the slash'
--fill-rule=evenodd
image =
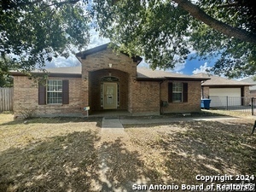
<path id="1" fill-rule="evenodd" d="M 193 76 L 211 78 L 201 84 L 201 97 L 210 98 L 211 107 L 247 105 L 250 101 L 249 86 L 252 84 L 207 73 L 197 73 Z"/>

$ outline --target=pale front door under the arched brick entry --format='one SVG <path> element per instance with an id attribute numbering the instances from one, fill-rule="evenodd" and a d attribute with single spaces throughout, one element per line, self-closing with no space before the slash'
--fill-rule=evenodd
<path id="1" fill-rule="evenodd" d="M 104 83 L 103 93 L 103 108 L 117 108 L 117 84 Z"/>

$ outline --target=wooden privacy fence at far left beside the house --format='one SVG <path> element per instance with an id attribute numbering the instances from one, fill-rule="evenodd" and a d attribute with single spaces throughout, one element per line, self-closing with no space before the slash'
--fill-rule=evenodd
<path id="1" fill-rule="evenodd" d="M 14 88 L 0 88 L 0 112 L 13 110 Z"/>

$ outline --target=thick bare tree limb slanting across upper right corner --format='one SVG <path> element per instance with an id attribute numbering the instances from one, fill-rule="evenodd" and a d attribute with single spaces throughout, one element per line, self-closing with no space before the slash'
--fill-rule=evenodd
<path id="1" fill-rule="evenodd" d="M 195 19 L 201 20 L 202 22 L 207 24 L 207 26 L 212 27 L 216 31 L 222 32 L 224 35 L 230 38 L 238 38 L 242 41 L 256 44 L 256 34 L 251 32 L 246 32 L 242 29 L 229 26 L 219 20 L 215 20 L 210 15 L 207 15 L 198 6 L 196 6 L 193 3 L 190 3 L 188 0 L 172 0 L 172 1 L 177 3 L 180 8 L 189 12 L 189 14 L 195 17 Z"/>

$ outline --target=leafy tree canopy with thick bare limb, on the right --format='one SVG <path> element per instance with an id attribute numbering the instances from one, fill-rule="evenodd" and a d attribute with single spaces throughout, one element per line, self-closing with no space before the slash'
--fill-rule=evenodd
<path id="1" fill-rule="evenodd" d="M 95 0 L 98 30 L 151 67 L 173 68 L 195 50 L 217 56 L 212 67 L 234 78 L 256 72 L 253 0 Z"/>

